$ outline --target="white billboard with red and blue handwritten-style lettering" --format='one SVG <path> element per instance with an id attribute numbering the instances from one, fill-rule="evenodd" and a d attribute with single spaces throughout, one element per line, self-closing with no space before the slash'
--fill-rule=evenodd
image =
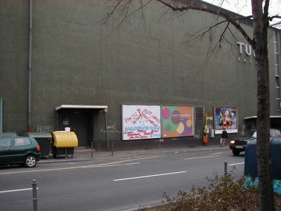
<path id="1" fill-rule="evenodd" d="M 160 106 L 122 105 L 122 139 L 161 138 Z"/>

